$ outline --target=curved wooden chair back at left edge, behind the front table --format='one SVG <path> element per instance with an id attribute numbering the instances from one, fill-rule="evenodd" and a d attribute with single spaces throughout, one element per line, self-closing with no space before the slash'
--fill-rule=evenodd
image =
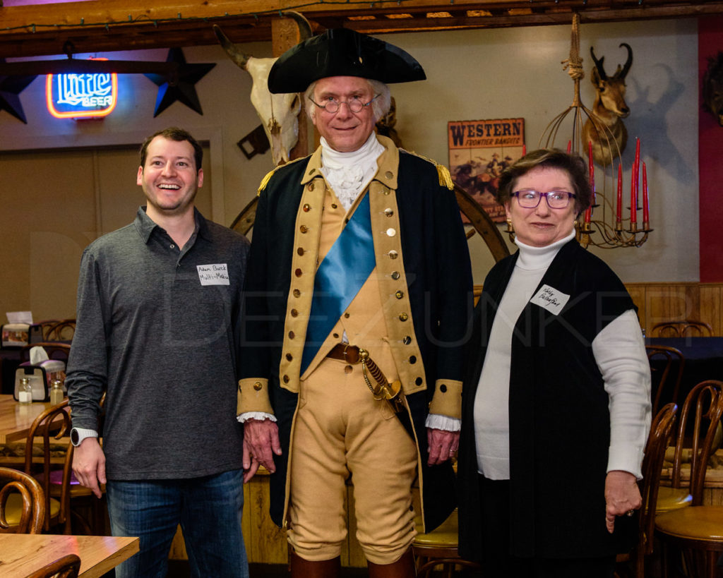
<path id="1" fill-rule="evenodd" d="M 38 480 L 30 475 L 0 467 L 0 532 L 17 534 L 40 534 L 46 519 L 46 501 L 43 488 Z M 20 517 L 17 524 L 10 524 L 7 519 L 10 496 L 20 494 Z"/>

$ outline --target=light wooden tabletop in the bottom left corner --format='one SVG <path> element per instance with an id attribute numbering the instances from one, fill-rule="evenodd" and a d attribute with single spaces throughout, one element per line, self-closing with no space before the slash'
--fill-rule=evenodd
<path id="1" fill-rule="evenodd" d="M 25 578 L 27 574 L 66 554 L 80 556 L 81 578 L 97 578 L 138 551 L 138 538 L 0 534 L 0 574 Z"/>

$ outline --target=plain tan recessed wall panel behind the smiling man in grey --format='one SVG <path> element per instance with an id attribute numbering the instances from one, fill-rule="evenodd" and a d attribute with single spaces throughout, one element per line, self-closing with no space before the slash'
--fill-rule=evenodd
<path id="1" fill-rule="evenodd" d="M 206 147 L 208 156 L 208 147 Z M 83 249 L 130 223 L 143 202 L 137 147 L 12 152 L 0 157 L 0 305 L 34 321 L 75 316 Z M 196 203 L 210 213 L 211 172 Z"/>

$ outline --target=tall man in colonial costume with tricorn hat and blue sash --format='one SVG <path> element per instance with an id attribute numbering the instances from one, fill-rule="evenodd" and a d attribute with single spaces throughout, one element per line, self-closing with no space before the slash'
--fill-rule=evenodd
<path id="1" fill-rule="evenodd" d="M 291 573 L 335 577 L 354 485 L 373 577 L 414 575 L 412 486 L 426 530 L 455 503 L 471 272 L 446 168 L 377 137 L 408 53 L 328 30 L 281 56 L 271 92 L 301 92 L 321 134 L 260 186 L 244 288 L 244 469 L 270 470 Z"/>

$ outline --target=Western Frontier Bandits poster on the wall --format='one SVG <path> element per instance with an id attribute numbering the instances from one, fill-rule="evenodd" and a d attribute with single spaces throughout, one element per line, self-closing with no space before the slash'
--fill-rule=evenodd
<path id="1" fill-rule="evenodd" d="M 497 184 L 505 167 L 523 155 L 525 119 L 450 121 L 450 173 L 495 223 L 505 222 L 505 207 L 497 203 Z M 464 223 L 469 220 L 462 215 Z"/>

